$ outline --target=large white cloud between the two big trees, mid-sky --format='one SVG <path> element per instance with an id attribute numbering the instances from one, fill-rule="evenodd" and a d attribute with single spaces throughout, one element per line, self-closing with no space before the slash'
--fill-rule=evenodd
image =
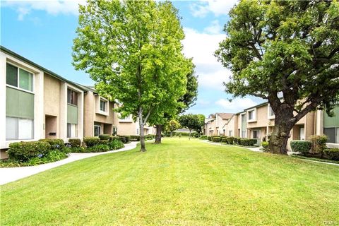
<path id="1" fill-rule="evenodd" d="M 219 42 L 225 39 L 225 35 L 197 32 L 191 28 L 184 28 L 184 32 L 184 54 L 186 57 L 193 57 L 196 74 L 199 76 L 199 87 L 224 90 L 222 83 L 228 81 L 232 73 L 225 69 L 213 54 L 218 49 Z"/>

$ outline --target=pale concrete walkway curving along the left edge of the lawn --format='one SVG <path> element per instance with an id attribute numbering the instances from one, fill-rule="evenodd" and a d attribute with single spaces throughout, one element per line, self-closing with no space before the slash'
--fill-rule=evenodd
<path id="1" fill-rule="evenodd" d="M 131 150 L 136 148 L 136 144 L 138 142 L 131 142 L 125 144 L 124 148 L 118 150 L 110 150 L 105 153 L 70 153 L 69 157 L 64 160 L 60 160 L 57 162 L 49 162 L 42 165 L 35 165 L 31 167 L 11 167 L 11 168 L 0 168 L 0 185 L 7 184 L 9 182 L 15 182 L 18 179 L 22 179 L 24 177 L 29 177 L 33 174 L 37 174 L 43 172 L 47 169 L 52 169 L 55 167 L 59 167 L 61 165 L 65 165 L 69 162 L 74 162 L 77 160 L 83 160 L 87 157 L 93 157 L 96 155 L 105 155 L 109 153 L 118 153 L 124 150 Z"/>

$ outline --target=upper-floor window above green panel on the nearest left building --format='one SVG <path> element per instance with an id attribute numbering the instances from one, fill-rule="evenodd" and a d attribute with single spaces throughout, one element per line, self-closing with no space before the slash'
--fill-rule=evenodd
<path id="1" fill-rule="evenodd" d="M 32 92 L 33 74 L 11 64 L 6 64 L 6 83 Z"/>

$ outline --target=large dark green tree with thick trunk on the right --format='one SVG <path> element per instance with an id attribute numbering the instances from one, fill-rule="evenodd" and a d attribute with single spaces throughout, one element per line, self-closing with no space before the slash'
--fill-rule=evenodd
<path id="1" fill-rule="evenodd" d="M 244 0 L 224 30 L 215 55 L 233 73 L 226 92 L 270 102 L 269 150 L 286 154 L 297 121 L 339 100 L 339 2 Z"/>

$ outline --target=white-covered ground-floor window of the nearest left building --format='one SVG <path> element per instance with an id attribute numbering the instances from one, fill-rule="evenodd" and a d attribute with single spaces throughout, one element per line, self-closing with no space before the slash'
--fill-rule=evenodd
<path id="1" fill-rule="evenodd" d="M 6 140 L 27 140 L 33 138 L 33 120 L 6 117 Z"/>

